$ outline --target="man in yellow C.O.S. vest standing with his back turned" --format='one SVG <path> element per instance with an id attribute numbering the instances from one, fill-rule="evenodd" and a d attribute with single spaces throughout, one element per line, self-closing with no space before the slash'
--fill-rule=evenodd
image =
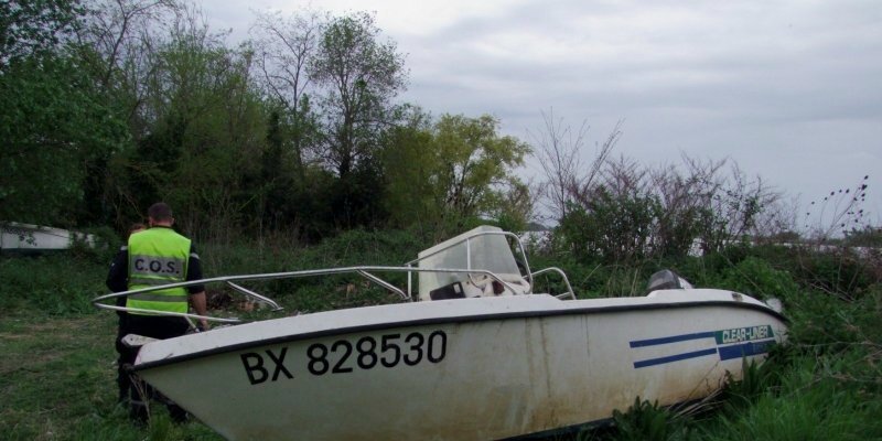
<path id="1" fill-rule="evenodd" d="M 202 266 L 193 243 L 172 229 L 174 217 L 171 207 L 162 202 L 151 205 L 148 219 L 150 228 L 130 235 L 128 244 L 117 254 L 107 277 L 108 288 L 119 292 L 202 279 Z M 126 306 L 129 310 L 126 320 L 120 323 L 120 334 L 160 340 L 183 335 L 190 330 L 190 322 L 181 316 L 161 313 L 186 313 L 191 304 L 196 314 L 206 315 L 204 286 L 128 295 Z M 201 319 L 200 323 L 203 330 L 208 327 L 205 319 Z M 137 348 L 123 351 L 120 354 L 119 368 L 127 369 L 137 356 Z M 129 413 L 140 422 L 148 418 L 147 402 L 152 392 L 147 389 L 141 381 L 132 383 L 129 388 Z M 174 421 L 186 420 L 186 412 L 182 408 L 172 402 L 166 405 Z"/>

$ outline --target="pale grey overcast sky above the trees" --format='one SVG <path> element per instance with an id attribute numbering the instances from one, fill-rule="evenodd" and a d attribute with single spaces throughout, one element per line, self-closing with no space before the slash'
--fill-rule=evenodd
<path id="1" fill-rule="evenodd" d="M 203 0 L 229 43 L 252 11 L 295 0 Z M 375 11 L 406 55 L 402 100 L 438 116 L 491 114 L 529 141 L 541 112 L 587 121 L 590 159 L 617 120 L 614 154 L 647 165 L 681 152 L 731 159 L 804 204 L 870 175 L 882 224 L 882 1 L 323 0 Z M 534 163 L 525 176 L 538 175 Z"/>

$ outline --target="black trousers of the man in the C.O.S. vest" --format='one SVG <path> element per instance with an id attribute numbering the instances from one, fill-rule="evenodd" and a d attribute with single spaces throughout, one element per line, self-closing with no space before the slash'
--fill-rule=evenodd
<path id="1" fill-rule="evenodd" d="M 138 347 L 128 347 L 122 344 L 122 337 L 128 334 L 143 335 L 146 337 L 165 340 L 184 335 L 190 329 L 190 323 L 175 316 L 155 316 L 125 314 L 120 316 L 119 332 L 117 333 L 117 352 L 119 352 L 117 384 L 120 395 L 127 395 L 129 399 L 129 412 L 133 419 L 146 421 L 148 419 L 147 405 L 153 390 L 131 373 L 131 366 L 138 357 Z M 123 387 L 126 391 L 123 392 Z M 175 421 L 186 419 L 186 411 L 171 400 L 162 398 L 169 408 L 169 413 Z"/>

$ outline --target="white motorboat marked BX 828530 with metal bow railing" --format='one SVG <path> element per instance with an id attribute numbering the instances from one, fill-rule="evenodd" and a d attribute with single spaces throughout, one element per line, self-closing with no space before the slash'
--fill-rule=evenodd
<path id="1" fill-rule="evenodd" d="M 701 399 L 786 337 L 767 304 L 673 273 L 646 297 L 576 300 L 562 271 L 519 270 L 510 238 L 481 227 L 404 267 L 206 279 L 271 302 L 239 283 L 352 272 L 406 301 L 151 341 L 133 368 L 230 440 L 491 440 L 601 422 L 636 397 Z M 533 293 L 546 272 L 568 291 Z"/>

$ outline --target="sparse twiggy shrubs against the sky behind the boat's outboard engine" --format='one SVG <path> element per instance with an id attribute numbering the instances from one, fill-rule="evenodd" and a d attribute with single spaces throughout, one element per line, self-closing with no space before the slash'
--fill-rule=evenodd
<path id="1" fill-rule="evenodd" d="M 747 180 L 736 164 L 724 175 L 725 161 L 682 162 L 686 171 L 649 169 L 602 152 L 584 178 L 567 175 L 576 171 L 566 163 L 546 170 L 557 182 L 553 198 L 564 201 L 553 245 L 604 263 L 635 265 L 722 251 L 756 235 L 762 216 L 774 217 L 766 211 L 779 195 L 761 179 Z"/>

